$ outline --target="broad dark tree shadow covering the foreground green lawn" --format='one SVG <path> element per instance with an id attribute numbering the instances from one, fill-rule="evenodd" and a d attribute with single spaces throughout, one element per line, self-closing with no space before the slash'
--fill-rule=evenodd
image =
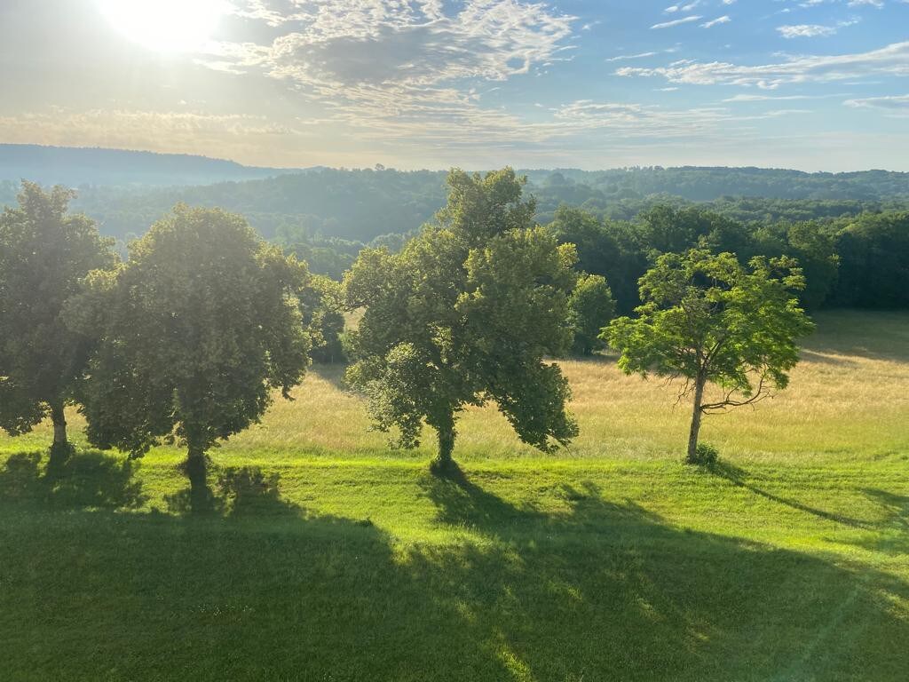
<path id="1" fill-rule="evenodd" d="M 0 491 L 33 471 L 15 460 Z M 415 478 L 440 524 L 479 531 L 431 543 L 315 514 L 255 467 L 216 476 L 203 517 L 0 496 L 0 679 L 905 678 L 893 576 L 674 527 L 583 480 L 558 513 L 486 480 Z"/>

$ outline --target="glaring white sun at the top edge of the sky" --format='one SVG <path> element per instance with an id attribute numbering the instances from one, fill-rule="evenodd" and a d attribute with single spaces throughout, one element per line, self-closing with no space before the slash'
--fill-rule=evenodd
<path id="1" fill-rule="evenodd" d="M 209 40 L 226 13 L 225 0 L 96 0 L 130 40 L 156 52 L 192 52 Z"/>

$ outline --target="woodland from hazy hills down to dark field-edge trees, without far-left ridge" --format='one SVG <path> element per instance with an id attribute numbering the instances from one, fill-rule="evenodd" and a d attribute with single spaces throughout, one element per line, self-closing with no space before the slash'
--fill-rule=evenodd
<path id="1" fill-rule="evenodd" d="M 804 306 L 909 306 L 909 174 L 806 174 L 757 168 L 529 171 L 534 220 L 577 246 L 578 269 L 604 276 L 620 313 L 655 256 L 704 246 L 793 256 Z M 18 184 L 0 183 L 0 204 Z M 315 169 L 210 186 L 83 186 L 73 209 L 125 244 L 176 203 L 245 216 L 310 271 L 340 280 L 365 246 L 399 251 L 445 205 L 445 173 Z"/>

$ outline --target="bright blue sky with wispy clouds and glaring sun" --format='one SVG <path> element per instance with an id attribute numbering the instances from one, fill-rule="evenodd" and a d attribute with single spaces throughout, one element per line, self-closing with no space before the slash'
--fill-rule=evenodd
<path id="1" fill-rule="evenodd" d="M 909 171 L 909 0 L 0 0 L 0 142 Z"/>

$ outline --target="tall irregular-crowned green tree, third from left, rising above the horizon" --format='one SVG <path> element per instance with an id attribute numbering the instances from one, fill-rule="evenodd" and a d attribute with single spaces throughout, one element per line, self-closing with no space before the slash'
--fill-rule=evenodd
<path id="1" fill-rule="evenodd" d="M 352 385 L 376 426 L 416 446 L 438 435 L 436 465 L 451 464 L 465 406 L 494 401 L 524 442 L 543 450 L 577 433 L 568 385 L 544 357 L 564 352 L 574 246 L 534 227 L 534 201 L 510 168 L 448 177 L 435 225 L 399 254 L 367 249 L 345 278 L 347 304 L 364 308 L 351 333 Z"/>

